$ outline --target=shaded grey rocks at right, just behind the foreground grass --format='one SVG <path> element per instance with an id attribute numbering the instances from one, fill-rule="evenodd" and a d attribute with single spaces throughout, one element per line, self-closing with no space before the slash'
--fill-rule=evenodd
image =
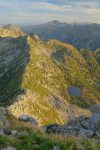
<path id="1" fill-rule="evenodd" d="M 46 126 L 45 130 L 49 134 L 67 134 L 100 140 L 100 113 L 90 117 L 80 116 L 63 126 L 51 124 Z"/>

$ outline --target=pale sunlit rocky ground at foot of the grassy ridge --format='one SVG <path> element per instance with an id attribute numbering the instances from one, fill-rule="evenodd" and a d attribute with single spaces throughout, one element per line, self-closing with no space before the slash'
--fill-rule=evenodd
<path id="1" fill-rule="evenodd" d="M 69 118 L 91 115 L 89 110 L 72 105 L 58 95 L 45 97 L 43 105 L 38 93 L 26 90 L 25 94 L 19 95 L 13 101 L 15 102 L 8 107 L 12 115 L 17 118 L 22 116 L 23 120 L 27 120 L 28 116 L 35 118 L 40 126 L 51 123 L 65 124 Z"/>

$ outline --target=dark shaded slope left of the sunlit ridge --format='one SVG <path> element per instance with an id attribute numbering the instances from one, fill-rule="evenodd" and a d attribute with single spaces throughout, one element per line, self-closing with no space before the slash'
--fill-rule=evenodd
<path id="1" fill-rule="evenodd" d="M 0 104 L 9 104 L 20 91 L 29 61 L 27 37 L 0 38 Z"/>

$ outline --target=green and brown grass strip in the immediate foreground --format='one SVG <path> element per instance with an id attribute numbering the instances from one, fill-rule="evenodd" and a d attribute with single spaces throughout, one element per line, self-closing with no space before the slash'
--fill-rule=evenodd
<path id="1" fill-rule="evenodd" d="M 54 145 L 57 145 L 61 150 L 79 150 L 81 144 L 85 150 L 99 150 L 100 145 L 95 140 L 46 135 L 43 130 L 20 122 L 13 116 L 8 115 L 7 118 L 11 123 L 11 129 L 17 130 L 21 134 L 18 137 L 0 136 L 0 149 L 9 145 L 17 150 L 50 150 Z"/>

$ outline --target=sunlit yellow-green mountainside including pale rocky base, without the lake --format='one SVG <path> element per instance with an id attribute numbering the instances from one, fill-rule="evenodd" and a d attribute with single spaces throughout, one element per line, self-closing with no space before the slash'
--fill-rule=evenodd
<path id="1" fill-rule="evenodd" d="M 75 110 L 73 115 L 83 115 L 85 112 L 77 111 L 79 108 L 67 102 L 88 106 L 99 100 L 99 92 L 93 86 L 95 74 L 91 74 L 86 60 L 75 47 L 55 40 L 35 42 L 30 36 L 28 43 L 30 61 L 21 85 L 26 89 L 26 94 L 18 97 L 20 101 L 10 107 L 15 116 L 28 114 L 42 125 L 54 122 L 63 124 L 68 115 L 73 114 L 72 111 Z M 73 85 L 82 89 L 81 97 L 68 95 L 67 87 Z M 62 108 L 55 106 L 55 99 L 60 99 Z"/>

